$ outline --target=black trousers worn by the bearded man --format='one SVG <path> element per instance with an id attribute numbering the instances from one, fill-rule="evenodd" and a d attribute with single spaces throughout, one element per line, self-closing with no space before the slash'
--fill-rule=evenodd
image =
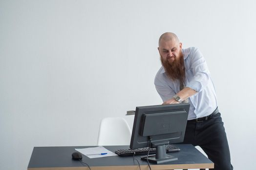
<path id="1" fill-rule="evenodd" d="M 200 146 L 214 163 L 214 169 L 210 170 L 233 170 L 220 113 L 201 122 L 188 120 L 183 143 Z"/>

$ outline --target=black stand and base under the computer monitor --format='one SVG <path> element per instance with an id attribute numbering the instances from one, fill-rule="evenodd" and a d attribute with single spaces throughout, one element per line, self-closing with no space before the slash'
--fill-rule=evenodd
<path id="1" fill-rule="evenodd" d="M 141 159 L 147 161 L 147 156 L 142 156 Z M 165 145 L 161 145 L 156 146 L 156 153 L 154 155 L 150 155 L 148 157 L 148 160 L 149 162 L 154 164 L 162 164 L 166 162 L 176 161 L 178 160 L 178 158 L 171 155 L 167 155 Z"/>

